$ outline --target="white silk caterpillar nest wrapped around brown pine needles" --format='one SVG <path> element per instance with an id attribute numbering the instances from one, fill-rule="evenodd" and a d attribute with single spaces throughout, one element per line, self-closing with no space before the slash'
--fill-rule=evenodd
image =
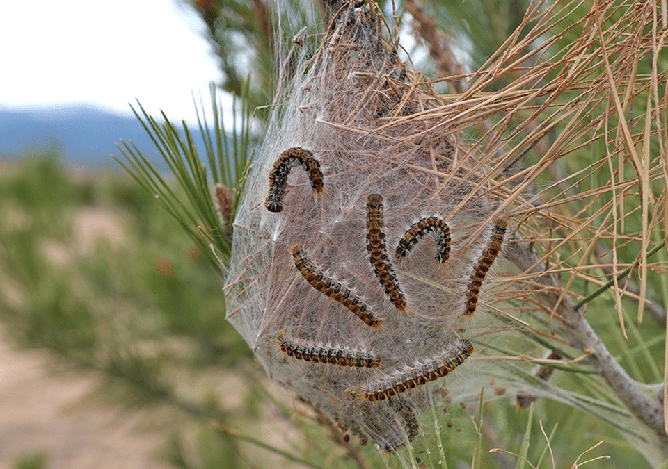
<path id="1" fill-rule="evenodd" d="M 353 3 L 353 2 L 351 2 Z M 234 222 L 228 320 L 268 375 L 394 452 L 451 384 L 510 231 L 443 99 L 404 67 L 374 5 L 341 8 L 303 60 Z M 447 377 L 446 377 L 447 375 Z M 479 392 L 479 388 L 475 391 Z"/>

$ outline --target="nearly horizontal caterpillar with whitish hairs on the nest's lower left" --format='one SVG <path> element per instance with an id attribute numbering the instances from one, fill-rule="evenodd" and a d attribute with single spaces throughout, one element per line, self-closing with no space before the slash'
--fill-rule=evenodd
<path id="1" fill-rule="evenodd" d="M 326 347 L 310 340 L 287 338 L 284 332 L 278 334 L 277 338 L 278 347 L 283 353 L 297 360 L 358 368 L 378 368 L 381 365 L 381 357 L 373 351 Z"/>

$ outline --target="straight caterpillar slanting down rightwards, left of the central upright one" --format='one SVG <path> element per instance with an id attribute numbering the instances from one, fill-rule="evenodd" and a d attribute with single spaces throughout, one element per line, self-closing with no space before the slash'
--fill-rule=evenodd
<path id="1" fill-rule="evenodd" d="M 311 262 L 302 245 L 294 245 L 290 249 L 290 252 L 292 253 L 295 267 L 313 288 L 348 308 L 351 313 L 363 320 L 367 326 L 379 327 L 381 325 L 381 321 L 375 318 L 372 311 L 369 311 L 369 307 L 363 299 L 342 283 L 327 277 Z"/>

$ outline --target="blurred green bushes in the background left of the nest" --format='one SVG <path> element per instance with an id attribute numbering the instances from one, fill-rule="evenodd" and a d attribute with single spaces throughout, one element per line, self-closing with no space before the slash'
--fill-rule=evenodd
<path id="1" fill-rule="evenodd" d="M 175 466 L 249 467 L 209 421 L 253 425 L 261 371 L 224 320 L 220 277 L 154 198 L 125 174 L 69 172 L 47 150 L 3 163 L 0 213 L 10 336 L 102 371 L 103 401 L 170 409 L 161 427 Z M 246 389 L 234 405 L 232 383 Z"/>

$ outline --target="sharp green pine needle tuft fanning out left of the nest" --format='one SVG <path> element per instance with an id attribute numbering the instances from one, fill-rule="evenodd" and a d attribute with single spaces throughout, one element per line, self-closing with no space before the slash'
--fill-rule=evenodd
<path id="1" fill-rule="evenodd" d="M 250 81 L 246 84 L 246 90 L 248 83 Z M 125 161 L 113 155 L 112 157 L 140 186 L 158 199 L 159 204 L 177 220 L 205 254 L 212 267 L 221 272 L 221 262 L 223 265 L 228 265 L 230 261 L 232 225 L 229 221 L 234 220 L 244 189 L 244 174 L 253 149 L 250 140 L 250 113 L 244 97 L 241 97 L 241 129 L 237 130 L 236 126 L 238 111 L 237 99 L 234 99 L 232 106 L 234 126 L 232 134 L 228 135 L 223 124 L 223 109 L 216 98 L 216 88 L 212 84 L 209 90 L 213 128 L 208 125 L 201 97 L 201 113 L 196 104 L 198 127 L 207 153 L 208 168 L 202 163 L 186 122 L 182 122 L 181 132 L 164 113 L 161 113 L 164 122 L 159 124 L 145 111 L 141 103 L 137 103 L 138 111 L 131 106 L 132 112 L 175 176 L 178 189 L 173 188 L 173 184 L 161 176 L 132 141 L 128 144 L 121 140 L 120 144 L 116 144 L 125 156 Z M 233 188 L 232 204 L 228 208 L 230 213 L 226 213 L 225 217 L 219 214 L 221 207 L 214 204 L 214 190 L 211 183 L 222 184 L 228 189 Z M 224 218 L 227 220 L 223 220 Z"/>

